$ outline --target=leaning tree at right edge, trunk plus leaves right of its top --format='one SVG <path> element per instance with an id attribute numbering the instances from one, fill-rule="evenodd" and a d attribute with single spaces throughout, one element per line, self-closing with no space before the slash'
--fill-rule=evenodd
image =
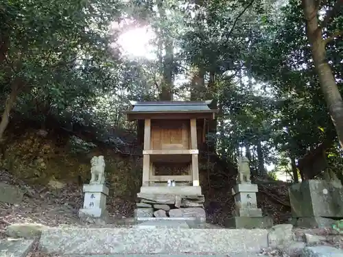
<path id="1" fill-rule="evenodd" d="M 327 61 L 326 51 L 329 42 L 343 35 L 342 26 L 336 27 L 337 23 L 342 25 L 342 21 L 336 21 L 336 24 L 331 27 L 329 24 L 336 15 L 343 14 L 343 1 L 335 0 L 330 3 L 331 1 L 303 0 L 303 11 L 306 19 L 307 37 L 311 45 L 312 58 L 318 73 L 320 87 L 327 101 L 329 114 L 335 125 L 340 145 L 343 148 L 343 100 Z M 321 23 L 318 19 L 320 10 L 326 10 Z"/>

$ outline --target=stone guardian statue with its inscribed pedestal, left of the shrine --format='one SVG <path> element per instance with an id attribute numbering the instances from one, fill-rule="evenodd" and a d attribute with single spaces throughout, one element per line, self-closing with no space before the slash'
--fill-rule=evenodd
<path id="1" fill-rule="evenodd" d="M 108 219 L 106 210 L 106 197 L 108 187 L 105 185 L 105 160 L 104 156 L 94 156 L 91 160 L 91 181 L 84 184 L 84 205 L 79 210 L 82 221 L 103 223 Z"/>

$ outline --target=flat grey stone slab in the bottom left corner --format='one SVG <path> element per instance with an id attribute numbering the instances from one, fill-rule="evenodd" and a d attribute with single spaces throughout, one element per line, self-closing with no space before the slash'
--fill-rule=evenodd
<path id="1" fill-rule="evenodd" d="M 1 257 L 26 257 L 34 247 L 33 239 L 21 239 L 18 241 L 0 241 Z"/>

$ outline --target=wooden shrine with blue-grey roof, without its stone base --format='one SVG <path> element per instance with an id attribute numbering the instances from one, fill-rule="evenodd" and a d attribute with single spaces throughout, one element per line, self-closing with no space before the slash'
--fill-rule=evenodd
<path id="1" fill-rule="evenodd" d="M 204 143 L 206 120 L 217 110 L 210 101 L 130 101 L 128 121 L 137 121 L 143 143 L 144 195 L 202 195 L 198 146 Z M 174 180 L 174 186 L 167 186 Z M 138 194 L 139 195 L 139 194 Z"/>

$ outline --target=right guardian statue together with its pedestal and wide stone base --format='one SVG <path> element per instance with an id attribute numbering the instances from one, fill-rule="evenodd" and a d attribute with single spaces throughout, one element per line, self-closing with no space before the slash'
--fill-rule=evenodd
<path id="1" fill-rule="evenodd" d="M 261 208 L 257 208 L 257 184 L 251 184 L 249 160 L 239 157 L 237 185 L 232 188 L 235 198 L 233 217 L 228 219 L 230 228 L 270 228 L 273 221 L 270 217 L 263 217 Z"/>

